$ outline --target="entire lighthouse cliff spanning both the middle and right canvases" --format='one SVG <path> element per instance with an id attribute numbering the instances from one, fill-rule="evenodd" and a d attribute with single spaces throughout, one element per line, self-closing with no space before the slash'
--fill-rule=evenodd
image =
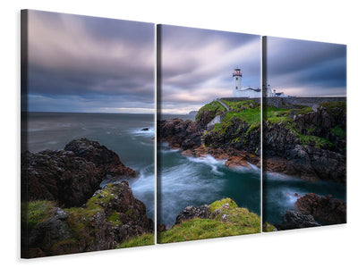
<path id="1" fill-rule="evenodd" d="M 214 101 L 200 108 L 196 121 L 159 121 L 159 140 L 183 149 L 184 155 L 242 155 L 242 160 L 260 166 L 260 105 L 251 100 L 225 102 L 230 111 Z M 263 108 L 263 171 L 345 183 L 345 102 L 314 107 Z M 211 125 L 217 116 L 221 121 Z"/>

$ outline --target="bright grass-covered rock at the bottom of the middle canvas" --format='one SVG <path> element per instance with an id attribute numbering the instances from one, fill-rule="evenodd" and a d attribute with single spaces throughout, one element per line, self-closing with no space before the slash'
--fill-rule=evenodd
<path id="1" fill-rule="evenodd" d="M 260 232 L 260 217 L 230 198 L 210 205 L 187 206 L 168 230 L 158 229 L 160 243 L 212 239 Z"/>

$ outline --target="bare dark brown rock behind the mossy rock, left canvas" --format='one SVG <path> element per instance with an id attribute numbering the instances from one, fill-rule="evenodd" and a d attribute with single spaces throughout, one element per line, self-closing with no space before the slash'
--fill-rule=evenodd
<path id="1" fill-rule="evenodd" d="M 72 140 L 64 150 L 25 152 L 21 155 L 21 200 L 80 206 L 107 174 L 126 179 L 135 176 L 115 152 L 87 138 Z"/>

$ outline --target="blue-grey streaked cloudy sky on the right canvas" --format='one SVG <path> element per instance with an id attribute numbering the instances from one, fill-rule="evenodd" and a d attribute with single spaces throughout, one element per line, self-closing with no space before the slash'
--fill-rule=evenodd
<path id="1" fill-rule="evenodd" d="M 346 46 L 268 37 L 268 84 L 290 96 L 346 96 Z"/>

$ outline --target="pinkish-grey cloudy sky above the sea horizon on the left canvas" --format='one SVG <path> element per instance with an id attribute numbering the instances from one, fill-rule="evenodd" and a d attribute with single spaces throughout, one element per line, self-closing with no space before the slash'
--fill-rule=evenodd
<path id="1" fill-rule="evenodd" d="M 29 110 L 154 113 L 154 24 L 29 12 Z"/>

